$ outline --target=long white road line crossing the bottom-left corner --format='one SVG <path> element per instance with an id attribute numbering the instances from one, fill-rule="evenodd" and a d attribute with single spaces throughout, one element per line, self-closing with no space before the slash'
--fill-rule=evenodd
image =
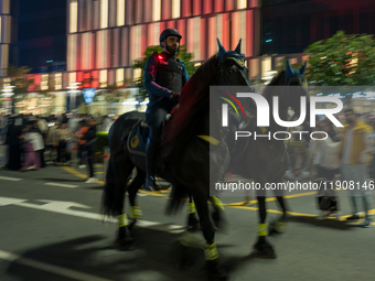
<path id="1" fill-rule="evenodd" d="M 76 270 L 62 268 L 58 266 L 53 266 L 43 261 L 38 261 L 29 258 L 23 258 L 22 256 L 0 250 L 0 259 L 7 260 L 10 262 L 17 262 L 30 268 L 35 268 L 39 270 L 47 271 L 53 274 L 71 278 L 74 280 L 82 280 L 82 281 L 110 281 L 110 279 L 99 278 L 92 274 L 87 274 L 84 272 L 79 272 Z"/>

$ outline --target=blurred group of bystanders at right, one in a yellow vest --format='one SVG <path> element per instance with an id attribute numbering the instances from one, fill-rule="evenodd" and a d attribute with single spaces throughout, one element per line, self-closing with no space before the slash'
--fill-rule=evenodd
<path id="1" fill-rule="evenodd" d="M 326 118 L 317 120 L 314 131 L 325 134 L 315 134 L 314 138 L 320 138 L 319 140 L 303 142 L 293 149 L 285 177 L 289 181 L 341 181 L 346 184 L 352 182 L 355 188 L 349 191 L 353 213 L 346 219 L 360 219 L 362 201 L 365 214 L 362 226 L 368 226 L 373 206 L 368 186 L 375 177 L 375 116 L 357 115 L 353 109 L 346 109 L 339 120 L 345 125 L 344 128 L 333 126 Z M 318 219 L 331 215 L 339 218 L 340 199 L 333 190 L 320 191 Z"/>

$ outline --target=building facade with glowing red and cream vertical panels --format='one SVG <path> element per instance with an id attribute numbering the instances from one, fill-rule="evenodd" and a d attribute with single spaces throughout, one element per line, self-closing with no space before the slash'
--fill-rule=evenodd
<path id="1" fill-rule="evenodd" d="M 243 39 L 247 66 L 260 65 L 258 0 L 68 0 L 67 6 L 68 83 L 93 77 L 92 87 L 105 87 L 139 77 L 132 62 L 147 46 L 159 45 L 167 28 L 179 30 L 196 63 L 217 52 L 218 37 L 227 50 Z"/>

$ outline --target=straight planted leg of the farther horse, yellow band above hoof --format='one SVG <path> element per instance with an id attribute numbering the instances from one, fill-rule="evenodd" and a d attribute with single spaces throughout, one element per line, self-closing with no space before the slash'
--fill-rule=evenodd
<path id="1" fill-rule="evenodd" d="M 257 191 L 258 208 L 259 208 L 259 224 L 258 224 L 258 240 L 254 245 L 257 253 L 267 259 L 276 259 L 274 247 L 267 241 L 268 227 L 266 224 L 267 209 L 266 209 L 266 194 Z"/>

